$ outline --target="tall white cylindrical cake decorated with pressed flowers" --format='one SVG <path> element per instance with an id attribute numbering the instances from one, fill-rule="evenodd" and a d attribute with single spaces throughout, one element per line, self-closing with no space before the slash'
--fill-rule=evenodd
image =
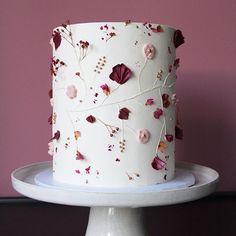
<path id="1" fill-rule="evenodd" d="M 184 37 L 161 24 L 62 24 L 50 41 L 53 179 L 130 187 L 174 178 L 175 51 Z"/>

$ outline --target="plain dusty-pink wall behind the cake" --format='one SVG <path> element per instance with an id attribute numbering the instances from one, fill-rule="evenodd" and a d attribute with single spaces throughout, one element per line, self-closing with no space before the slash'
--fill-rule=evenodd
<path id="1" fill-rule="evenodd" d="M 235 12 L 235 0 L 0 0 L 0 196 L 17 195 L 15 168 L 51 159 L 49 38 L 67 19 L 131 19 L 183 31 L 177 92 L 185 137 L 177 159 L 216 169 L 218 190 L 235 191 Z"/>

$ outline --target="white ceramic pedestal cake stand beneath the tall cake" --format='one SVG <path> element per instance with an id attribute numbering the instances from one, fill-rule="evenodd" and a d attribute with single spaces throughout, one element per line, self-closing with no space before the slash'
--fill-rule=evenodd
<path id="1" fill-rule="evenodd" d="M 162 184 L 136 188 L 105 189 L 73 187 L 54 183 L 50 177 L 51 162 L 31 164 L 15 170 L 12 185 L 19 193 L 41 201 L 73 206 L 89 206 L 90 216 L 86 236 L 144 236 L 142 209 L 188 202 L 205 197 L 216 189 L 219 175 L 208 167 L 177 162 L 180 182 L 190 185 L 191 175 L 195 184 L 186 187 L 165 187 Z M 177 177 L 178 178 L 178 177 Z"/>

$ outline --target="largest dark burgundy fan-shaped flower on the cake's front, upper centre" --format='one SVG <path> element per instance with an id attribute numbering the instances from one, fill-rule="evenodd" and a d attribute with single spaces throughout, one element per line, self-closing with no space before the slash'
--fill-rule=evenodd
<path id="1" fill-rule="evenodd" d="M 132 71 L 125 64 L 118 64 L 112 68 L 109 78 L 118 84 L 126 83 L 132 75 Z"/>

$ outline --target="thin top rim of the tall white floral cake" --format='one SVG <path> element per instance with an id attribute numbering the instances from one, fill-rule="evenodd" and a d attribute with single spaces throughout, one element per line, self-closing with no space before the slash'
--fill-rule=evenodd
<path id="1" fill-rule="evenodd" d="M 152 22 L 136 22 L 136 21 L 99 21 L 99 22 L 79 22 L 79 23 L 70 23 L 69 21 L 67 21 L 65 24 L 62 24 L 62 25 L 59 25 L 57 27 L 54 27 L 53 30 L 56 30 L 58 27 L 61 27 L 63 25 L 70 25 L 72 27 L 76 27 L 76 26 L 82 26 L 82 25 L 98 25 L 98 26 L 101 26 L 101 25 L 106 25 L 106 24 L 109 24 L 109 25 L 129 25 L 129 24 L 135 24 L 135 25 L 138 25 L 138 26 L 148 26 L 148 27 L 162 27 L 162 28 L 165 28 L 165 29 L 170 29 L 170 30 L 173 30 L 173 31 L 176 31 L 178 28 L 176 27 L 173 27 L 173 26 L 170 26 L 170 25 L 166 25 L 166 24 L 161 24 L 161 23 L 152 23 Z"/>

